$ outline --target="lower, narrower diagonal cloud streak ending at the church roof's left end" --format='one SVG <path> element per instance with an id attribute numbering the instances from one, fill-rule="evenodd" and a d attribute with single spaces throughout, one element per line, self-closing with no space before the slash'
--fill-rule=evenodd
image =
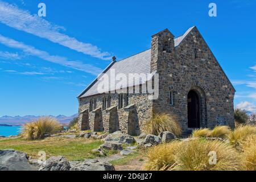
<path id="1" fill-rule="evenodd" d="M 65 67 L 77 69 L 79 71 L 91 73 L 92 75 L 98 75 L 102 71 L 98 67 L 94 67 L 93 65 L 90 65 L 90 64 L 84 64 L 82 63 L 82 61 L 79 61 L 79 60 L 70 61 L 67 59 L 67 57 L 49 55 L 49 53 L 46 51 L 41 51 L 39 49 L 36 49 L 35 47 L 28 46 L 22 42 L 18 42 L 16 40 L 2 36 L 1 34 L 0 34 L 0 43 L 4 44 L 7 47 L 20 49 L 23 52 L 27 53 L 28 55 L 37 56 L 40 59 L 43 59 L 52 63 L 64 65 Z"/>

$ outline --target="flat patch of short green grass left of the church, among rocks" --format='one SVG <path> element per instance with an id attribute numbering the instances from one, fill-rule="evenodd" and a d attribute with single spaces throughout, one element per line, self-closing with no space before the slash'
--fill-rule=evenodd
<path id="1" fill-rule="evenodd" d="M 64 137 L 49 137 L 42 140 L 0 139 L 0 150 L 13 148 L 26 152 L 35 159 L 38 158 L 39 151 L 45 151 L 47 158 L 61 155 L 68 160 L 84 160 L 94 158 L 91 150 L 98 148 L 102 143 L 101 140 Z"/>

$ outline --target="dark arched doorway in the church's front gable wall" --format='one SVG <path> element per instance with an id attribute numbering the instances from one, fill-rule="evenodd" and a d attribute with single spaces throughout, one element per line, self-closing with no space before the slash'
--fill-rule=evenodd
<path id="1" fill-rule="evenodd" d="M 200 100 L 198 94 L 188 92 L 188 128 L 200 128 Z"/>

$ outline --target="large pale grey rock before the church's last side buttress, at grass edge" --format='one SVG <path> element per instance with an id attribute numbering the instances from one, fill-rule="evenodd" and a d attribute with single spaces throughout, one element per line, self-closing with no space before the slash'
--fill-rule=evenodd
<path id="1" fill-rule="evenodd" d="M 130 135 L 121 133 L 121 131 L 115 131 L 114 133 L 109 134 L 105 138 L 105 141 L 130 144 L 130 143 L 134 143 L 135 139 Z"/>

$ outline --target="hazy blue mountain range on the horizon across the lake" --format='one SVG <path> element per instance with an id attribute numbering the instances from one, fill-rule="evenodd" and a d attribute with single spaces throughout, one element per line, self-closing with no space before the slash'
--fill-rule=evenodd
<path id="1" fill-rule="evenodd" d="M 60 123 L 67 124 L 69 123 L 73 118 L 78 117 L 78 114 L 74 114 L 71 116 L 65 116 L 65 115 L 57 115 L 56 117 L 53 115 L 49 115 L 52 118 L 56 118 Z M 35 119 L 38 119 L 41 116 L 36 116 L 36 115 L 25 115 L 25 116 L 20 116 L 16 115 L 14 117 L 9 116 L 9 115 L 4 115 L 0 117 L 0 125 L 13 125 L 13 126 L 18 126 L 18 125 L 23 125 L 26 122 L 31 122 L 34 121 Z"/>

